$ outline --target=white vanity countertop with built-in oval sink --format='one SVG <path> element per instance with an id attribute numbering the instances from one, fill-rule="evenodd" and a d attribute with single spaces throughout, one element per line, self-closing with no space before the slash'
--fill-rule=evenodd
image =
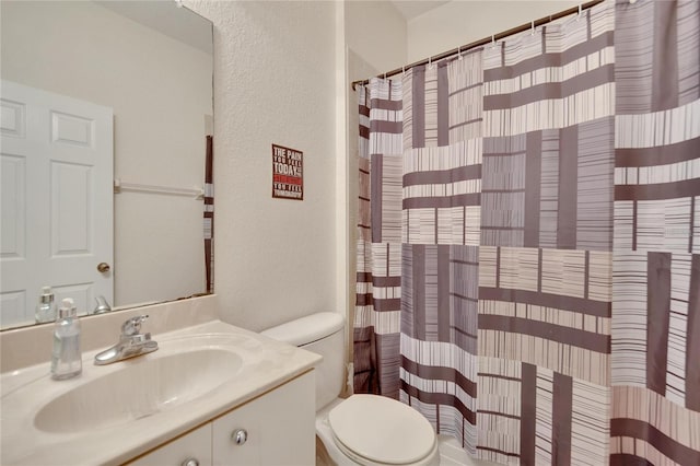
<path id="1" fill-rule="evenodd" d="M 121 465 L 308 371 L 320 357 L 211 321 L 154 334 L 158 351 L 52 381 L 0 375 L 0 464 Z"/>

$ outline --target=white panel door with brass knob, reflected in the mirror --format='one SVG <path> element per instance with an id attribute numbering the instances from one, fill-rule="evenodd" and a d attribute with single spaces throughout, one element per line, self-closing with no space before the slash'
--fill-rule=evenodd
<path id="1" fill-rule="evenodd" d="M 42 287 L 113 303 L 113 110 L 1 82 L 0 326 L 34 322 Z"/>

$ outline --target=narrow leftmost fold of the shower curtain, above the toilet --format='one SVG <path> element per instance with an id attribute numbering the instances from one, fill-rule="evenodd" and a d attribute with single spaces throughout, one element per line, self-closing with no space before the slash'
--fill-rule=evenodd
<path id="1" fill-rule="evenodd" d="M 402 94 L 373 80 L 360 103 L 354 392 L 398 398 Z"/>

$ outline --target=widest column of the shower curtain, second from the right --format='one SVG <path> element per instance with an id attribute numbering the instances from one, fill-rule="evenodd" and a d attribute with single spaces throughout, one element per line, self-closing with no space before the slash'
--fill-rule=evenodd
<path id="1" fill-rule="evenodd" d="M 479 456 L 608 461 L 614 4 L 485 51 Z"/>

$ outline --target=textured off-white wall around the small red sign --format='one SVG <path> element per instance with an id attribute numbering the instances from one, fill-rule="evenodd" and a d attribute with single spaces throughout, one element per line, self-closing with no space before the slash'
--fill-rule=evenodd
<path id="1" fill-rule="evenodd" d="M 214 23 L 214 290 L 260 330 L 336 305 L 334 2 L 186 4 Z M 270 144 L 304 152 L 304 200 L 271 198 Z"/>

